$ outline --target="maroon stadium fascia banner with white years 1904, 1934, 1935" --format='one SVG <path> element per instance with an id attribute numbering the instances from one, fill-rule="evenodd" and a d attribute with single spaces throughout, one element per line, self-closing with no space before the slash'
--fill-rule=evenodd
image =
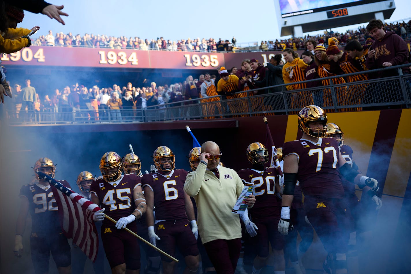
<path id="1" fill-rule="evenodd" d="M 4 65 L 215 70 L 219 66 L 240 68 L 244 59 L 255 58 L 264 64 L 277 53 L 281 51 L 210 53 L 30 46 L 4 54 L 1 60 Z"/>

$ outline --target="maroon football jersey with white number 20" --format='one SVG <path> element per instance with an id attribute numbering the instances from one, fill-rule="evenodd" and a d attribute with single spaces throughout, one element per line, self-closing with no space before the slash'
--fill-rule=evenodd
<path id="1" fill-rule="evenodd" d="M 279 217 L 281 201 L 275 196 L 275 184 L 278 183 L 277 170 L 266 167 L 264 171 L 246 168 L 238 171 L 242 180 L 254 183 L 253 195 L 256 196 L 254 207 L 248 209 L 253 218 Z"/>

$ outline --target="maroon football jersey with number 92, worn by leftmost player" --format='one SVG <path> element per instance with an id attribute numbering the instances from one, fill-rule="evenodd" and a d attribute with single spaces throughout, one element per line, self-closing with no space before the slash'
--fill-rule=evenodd
<path id="1" fill-rule="evenodd" d="M 71 188 L 67 181 L 59 181 Z M 57 203 L 55 202 L 51 186 L 43 186 L 40 183 L 30 183 L 22 186 L 20 196 L 25 196 L 29 202 L 29 212 L 32 218 L 32 232 L 60 231 L 60 222 L 57 213 Z M 40 236 L 40 235 L 39 235 Z"/>

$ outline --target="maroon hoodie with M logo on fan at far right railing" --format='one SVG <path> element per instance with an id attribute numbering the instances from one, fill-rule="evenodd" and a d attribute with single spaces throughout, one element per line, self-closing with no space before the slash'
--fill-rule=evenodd
<path id="1" fill-rule="evenodd" d="M 375 49 L 374 58 L 367 58 L 365 65 L 369 70 L 382 68 L 384 62 L 390 62 L 395 65 L 402 65 L 408 63 L 408 47 L 404 40 L 397 34 L 387 31 L 381 41 L 375 40 L 371 45 Z M 403 73 L 409 73 L 409 67 L 402 68 Z M 387 77 L 397 75 L 396 70 L 384 70 L 379 72 L 379 77 Z"/>

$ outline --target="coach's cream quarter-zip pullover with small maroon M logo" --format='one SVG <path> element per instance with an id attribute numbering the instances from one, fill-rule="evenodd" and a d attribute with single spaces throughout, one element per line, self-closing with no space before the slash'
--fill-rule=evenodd
<path id="1" fill-rule="evenodd" d="M 204 163 L 189 172 L 184 191 L 194 197 L 198 209 L 198 227 L 201 241 L 241 238 L 238 214 L 231 213 L 244 184 L 237 172 L 218 166 L 220 179 Z"/>

